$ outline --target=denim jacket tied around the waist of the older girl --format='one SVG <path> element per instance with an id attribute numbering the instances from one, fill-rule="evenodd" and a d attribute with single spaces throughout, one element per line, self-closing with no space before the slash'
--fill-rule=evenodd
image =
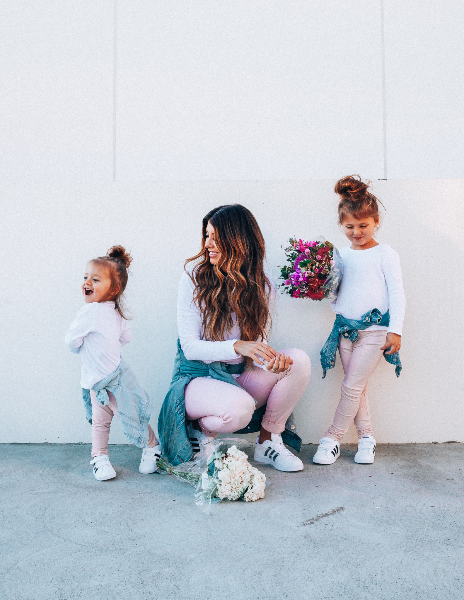
<path id="1" fill-rule="evenodd" d="M 321 365 L 324 371 L 322 379 L 324 379 L 328 369 L 335 367 L 335 357 L 337 348 L 339 347 L 340 335 L 349 338 L 355 343 L 358 339 L 358 329 L 363 331 L 372 325 L 388 327 L 388 323 L 390 323 L 390 311 L 387 310 L 386 313 L 382 314 L 378 308 L 373 308 L 368 313 L 363 314 L 359 321 L 345 319 L 341 314 L 337 314 L 333 329 L 321 350 Z M 399 352 L 395 352 L 394 354 L 387 354 L 386 352 L 388 352 L 388 348 L 384 350 L 385 360 L 396 367 L 395 373 L 399 377 L 402 370 Z"/>

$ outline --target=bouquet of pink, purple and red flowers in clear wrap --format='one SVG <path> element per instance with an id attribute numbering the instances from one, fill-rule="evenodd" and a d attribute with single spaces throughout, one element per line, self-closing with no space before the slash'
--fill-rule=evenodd
<path id="1" fill-rule="evenodd" d="M 289 242 L 285 248 L 289 265 L 280 269 L 283 283 L 279 287 L 293 298 L 336 298 L 343 275 L 342 257 L 337 248 L 321 239 L 304 242 L 290 238 Z"/>

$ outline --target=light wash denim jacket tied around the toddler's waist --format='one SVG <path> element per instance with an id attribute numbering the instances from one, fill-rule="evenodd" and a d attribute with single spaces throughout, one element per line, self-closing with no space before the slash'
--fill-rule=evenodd
<path id="1" fill-rule="evenodd" d="M 125 437 L 139 448 L 145 448 L 148 443 L 148 422 L 153 407 L 148 394 L 140 386 L 127 362 L 121 358 L 116 371 L 95 383 L 92 390 L 97 392 L 97 401 L 101 406 L 109 403 L 107 391 L 113 394 L 118 405 L 119 418 Z M 92 401 L 88 389 L 82 388 L 82 398 L 85 416 L 91 424 Z"/>

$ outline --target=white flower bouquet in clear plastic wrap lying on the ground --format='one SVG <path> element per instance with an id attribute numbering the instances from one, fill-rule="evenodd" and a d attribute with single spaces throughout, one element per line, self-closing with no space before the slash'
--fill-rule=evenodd
<path id="1" fill-rule="evenodd" d="M 227 500 L 255 502 L 264 498 L 266 476 L 248 462 L 254 444 L 238 438 L 215 439 L 200 450 L 200 456 L 173 467 L 164 458 L 157 461 L 161 473 L 174 475 L 195 488 L 194 502 L 203 512 Z"/>

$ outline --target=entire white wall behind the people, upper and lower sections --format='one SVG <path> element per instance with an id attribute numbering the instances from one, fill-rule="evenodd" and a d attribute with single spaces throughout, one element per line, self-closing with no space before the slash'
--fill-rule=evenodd
<path id="1" fill-rule="evenodd" d="M 249 206 L 278 275 L 289 235 L 345 244 L 333 185 L 351 172 L 387 206 L 379 240 L 399 251 L 408 296 L 402 375 L 382 361 L 370 383 L 377 439 L 464 441 L 463 13 L 451 0 L 2 2 L 0 441 L 90 439 L 62 341 L 86 260 L 133 252 L 124 353 L 155 425 L 203 215 Z M 342 377 L 321 380 L 333 316 L 289 297 L 277 311 L 276 346 L 313 361 L 297 413 L 315 442 Z"/>

